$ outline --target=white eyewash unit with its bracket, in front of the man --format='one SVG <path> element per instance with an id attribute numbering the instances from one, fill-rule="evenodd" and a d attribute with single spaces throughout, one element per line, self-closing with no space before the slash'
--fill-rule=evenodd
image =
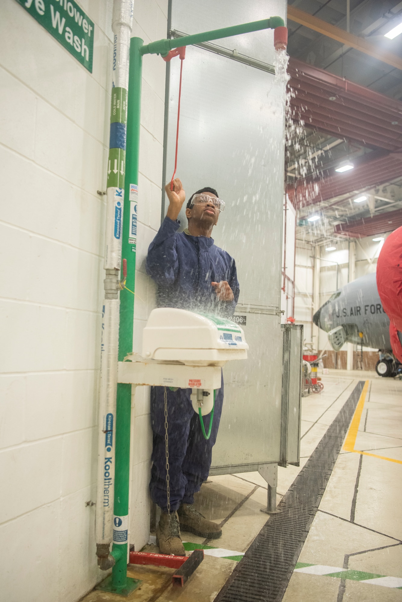
<path id="1" fill-rule="evenodd" d="M 186 309 L 153 309 L 143 330 L 143 353 L 119 362 L 117 381 L 133 385 L 191 388 L 194 411 L 209 414 L 221 367 L 247 359 L 243 329 L 227 318 Z"/>

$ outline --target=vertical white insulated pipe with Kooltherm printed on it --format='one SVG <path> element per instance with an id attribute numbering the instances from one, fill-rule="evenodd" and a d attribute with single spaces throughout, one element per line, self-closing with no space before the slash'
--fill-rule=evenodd
<path id="1" fill-rule="evenodd" d="M 95 537 L 98 564 L 108 567 L 113 538 L 117 361 L 119 351 L 119 270 L 122 256 L 129 53 L 134 0 L 114 0 L 113 81 L 107 181 L 105 299 L 98 412 L 98 468 Z"/>

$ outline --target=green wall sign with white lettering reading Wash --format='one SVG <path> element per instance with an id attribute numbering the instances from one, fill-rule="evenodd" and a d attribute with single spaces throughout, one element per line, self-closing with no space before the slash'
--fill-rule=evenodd
<path id="1" fill-rule="evenodd" d="M 17 2 L 92 73 L 94 24 L 74 0 Z"/>

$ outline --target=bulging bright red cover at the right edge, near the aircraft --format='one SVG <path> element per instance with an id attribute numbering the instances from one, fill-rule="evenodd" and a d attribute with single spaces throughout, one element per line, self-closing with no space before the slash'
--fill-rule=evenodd
<path id="1" fill-rule="evenodd" d="M 397 331 L 402 332 L 402 226 L 389 237 L 377 261 L 377 288 L 389 317 L 389 336 L 395 357 L 402 362 L 402 346 Z"/>

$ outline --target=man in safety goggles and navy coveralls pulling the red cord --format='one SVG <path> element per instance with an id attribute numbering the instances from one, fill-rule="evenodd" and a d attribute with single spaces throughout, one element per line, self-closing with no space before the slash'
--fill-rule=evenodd
<path id="1" fill-rule="evenodd" d="M 165 186 L 169 198 L 167 215 L 148 249 L 147 273 L 158 285 L 158 307 L 175 307 L 229 317 L 239 297 L 236 265 L 229 253 L 214 245 L 212 228 L 224 202 L 214 188 L 202 188 L 187 203 L 188 228 L 178 232 L 179 212 L 185 191 L 179 179 Z M 215 397 L 211 436 L 202 434 L 199 415 L 190 400 L 191 389 L 167 388 L 170 517 L 167 510 L 164 387 L 151 389 L 153 430 L 150 495 L 161 508 L 156 542 L 163 554 L 184 556 L 182 530 L 201 537 L 221 536 L 220 526 L 206 520 L 194 508 L 194 493 L 200 490 L 211 467 L 223 403 L 223 378 Z M 205 428 L 210 415 L 203 417 Z"/>

